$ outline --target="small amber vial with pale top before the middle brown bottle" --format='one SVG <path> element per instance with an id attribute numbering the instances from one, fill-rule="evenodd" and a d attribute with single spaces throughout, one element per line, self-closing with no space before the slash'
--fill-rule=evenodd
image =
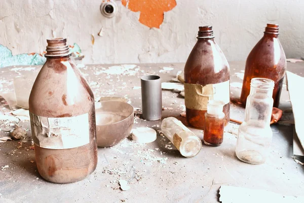
<path id="1" fill-rule="evenodd" d="M 219 146 L 223 142 L 225 114 L 221 100 L 209 100 L 205 113 L 204 143 L 210 146 Z"/>

